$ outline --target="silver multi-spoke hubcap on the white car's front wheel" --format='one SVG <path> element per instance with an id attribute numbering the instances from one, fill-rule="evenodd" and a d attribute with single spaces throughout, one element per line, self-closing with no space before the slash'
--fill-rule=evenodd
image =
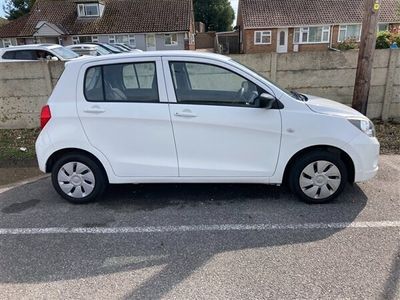
<path id="1" fill-rule="evenodd" d="M 333 163 L 318 160 L 300 174 L 299 184 L 304 194 L 314 199 L 325 199 L 333 195 L 339 188 L 341 174 Z"/>

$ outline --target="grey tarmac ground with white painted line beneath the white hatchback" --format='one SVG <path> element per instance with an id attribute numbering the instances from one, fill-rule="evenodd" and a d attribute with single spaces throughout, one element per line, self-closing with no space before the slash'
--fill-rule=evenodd
<path id="1" fill-rule="evenodd" d="M 338 201 L 262 185 L 0 193 L 0 299 L 400 298 L 400 156 Z"/>

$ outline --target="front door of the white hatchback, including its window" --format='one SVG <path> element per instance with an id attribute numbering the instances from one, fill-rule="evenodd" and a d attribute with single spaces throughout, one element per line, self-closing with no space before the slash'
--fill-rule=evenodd
<path id="1" fill-rule="evenodd" d="M 163 65 L 175 101 L 170 113 L 180 176 L 272 176 L 281 115 L 260 107 L 266 91 L 229 65 L 189 58 L 164 58 Z"/>

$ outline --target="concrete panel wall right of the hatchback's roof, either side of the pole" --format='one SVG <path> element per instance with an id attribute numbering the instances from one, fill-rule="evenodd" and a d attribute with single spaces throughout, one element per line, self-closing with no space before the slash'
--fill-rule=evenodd
<path id="1" fill-rule="evenodd" d="M 282 87 L 351 105 L 358 51 L 231 55 Z M 368 116 L 400 118 L 400 50 L 376 50 Z"/>

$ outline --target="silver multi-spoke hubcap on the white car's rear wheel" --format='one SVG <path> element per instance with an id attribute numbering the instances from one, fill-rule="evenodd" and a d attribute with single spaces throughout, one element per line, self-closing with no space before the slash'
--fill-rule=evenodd
<path id="1" fill-rule="evenodd" d="M 58 185 L 70 197 L 84 198 L 93 192 L 95 179 L 92 170 L 81 162 L 69 162 L 58 171 Z"/>

